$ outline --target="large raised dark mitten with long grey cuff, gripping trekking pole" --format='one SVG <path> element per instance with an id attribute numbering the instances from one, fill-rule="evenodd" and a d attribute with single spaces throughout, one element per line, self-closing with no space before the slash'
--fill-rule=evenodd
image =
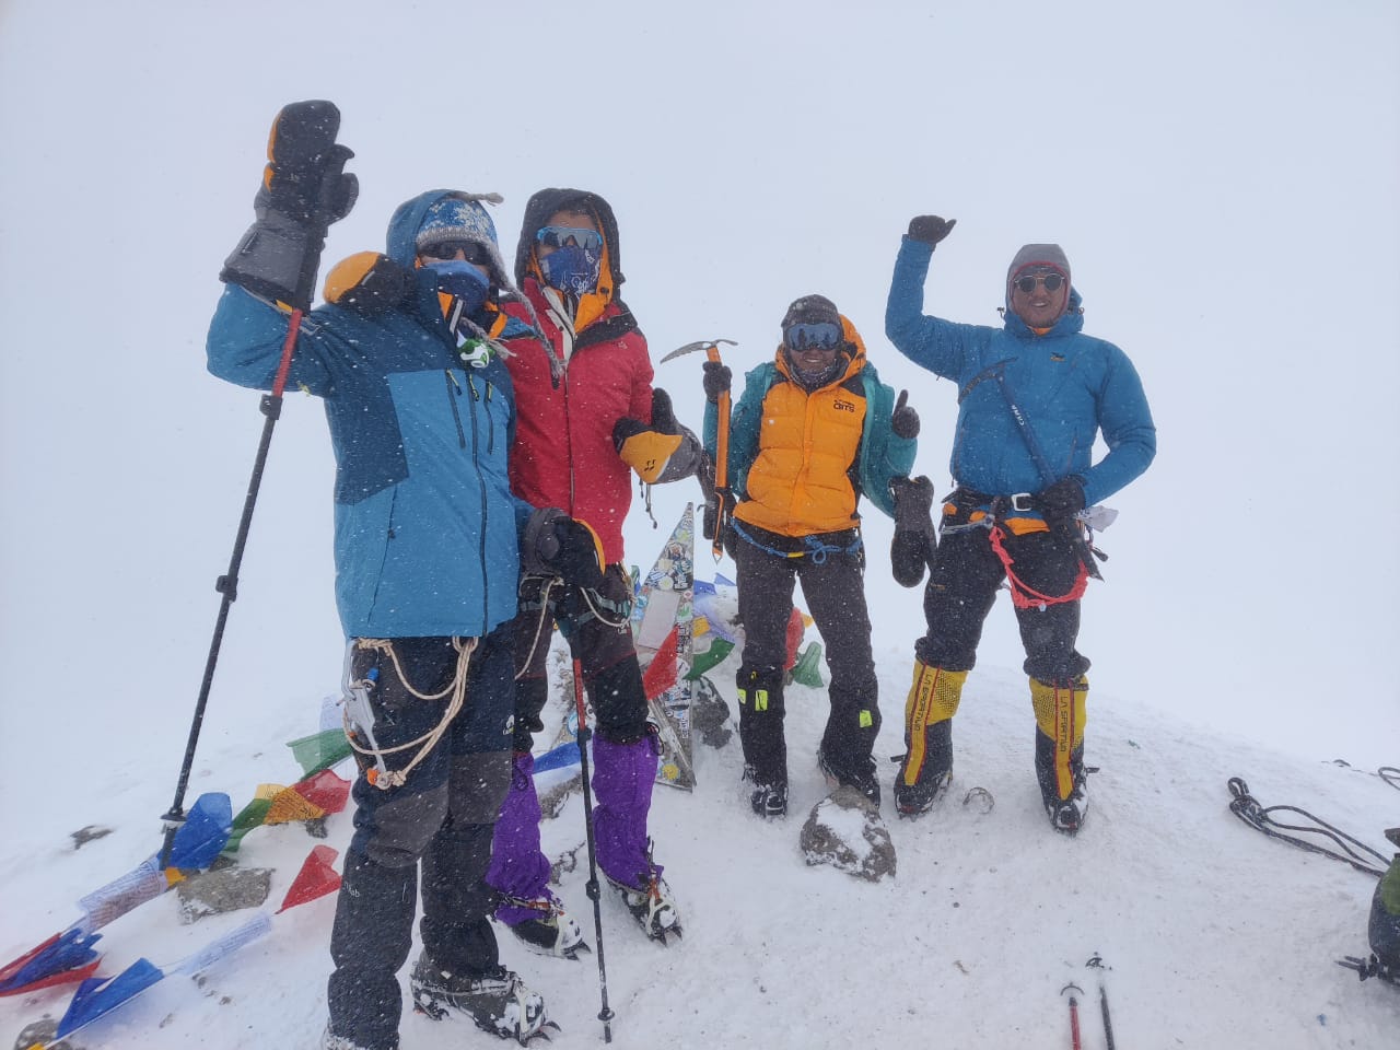
<path id="1" fill-rule="evenodd" d="M 256 221 L 224 260 L 220 280 L 253 294 L 311 308 L 326 230 L 354 206 L 360 183 L 346 174 L 354 157 L 336 143 L 333 102 L 291 102 L 267 139 L 267 167 L 253 197 Z"/>

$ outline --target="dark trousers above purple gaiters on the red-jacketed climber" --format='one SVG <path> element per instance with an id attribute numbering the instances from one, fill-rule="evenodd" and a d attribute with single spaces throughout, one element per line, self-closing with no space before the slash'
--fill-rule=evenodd
<path id="1" fill-rule="evenodd" d="M 631 584 L 620 564 L 608 566 L 592 608 L 575 591 L 556 588 L 545 599 L 543 577 L 521 580 L 515 617 L 515 750 L 531 749 L 531 734 L 543 729 L 540 711 L 549 700 L 546 658 L 549 636 L 559 620 L 570 648 L 578 654 L 584 689 L 598 715 L 598 735 L 613 743 L 636 743 L 647 735 L 647 693 L 627 615 Z M 605 619 L 599 619 L 602 613 Z"/>

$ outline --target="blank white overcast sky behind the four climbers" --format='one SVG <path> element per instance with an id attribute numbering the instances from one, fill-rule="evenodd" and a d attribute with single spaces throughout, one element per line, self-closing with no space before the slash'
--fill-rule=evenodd
<path id="1" fill-rule="evenodd" d="M 899 237 L 921 211 L 959 220 L 928 308 L 981 323 L 1015 249 L 1058 241 L 1086 330 L 1133 357 L 1159 427 L 1102 538 L 1095 689 L 1393 764 L 1400 8 L 1137 7 L 10 0 L 7 769 L 63 732 L 174 783 L 262 426 L 256 395 L 204 372 L 204 330 L 270 119 L 301 98 L 336 101 L 357 151 L 328 266 L 431 186 L 504 193 L 507 253 L 531 192 L 598 190 L 654 360 L 725 336 L 742 370 L 790 300 L 827 294 L 911 391 L 941 493 L 955 391 L 882 333 Z M 699 361 L 658 384 L 697 424 Z M 336 687 L 330 473 L 319 406 L 290 396 L 207 732 Z M 658 491 L 664 529 L 694 496 Z M 868 536 L 881 638 L 907 651 L 918 594 L 888 578 L 885 522 Z M 662 539 L 637 510 L 630 560 Z M 983 664 L 1019 661 L 998 606 Z"/>

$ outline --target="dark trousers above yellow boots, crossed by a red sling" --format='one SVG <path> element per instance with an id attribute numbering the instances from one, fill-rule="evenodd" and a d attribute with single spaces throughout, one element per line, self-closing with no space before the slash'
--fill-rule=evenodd
<path id="1" fill-rule="evenodd" d="M 981 626 L 991 612 L 997 588 L 1007 570 L 991 547 L 986 528 L 962 528 L 965 511 L 944 519 L 944 535 L 924 588 L 924 619 L 928 633 L 916 643 L 916 655 L 928 666 L 972 671 L 977 662 Z M 949 532 L 948 526 L 959 526 Z M 1064 595 L 1079 575 L 1079 553 L 1049 532 L 1025 536 L 1004 535 L 1012 571 L 1044 595 Z M 1077 650 L 1079 602 L 1016 609 L 1021 643 L 1026 651 L 1025 672 L 1047 685 L 1067 683 L 1089 669 Z"/>

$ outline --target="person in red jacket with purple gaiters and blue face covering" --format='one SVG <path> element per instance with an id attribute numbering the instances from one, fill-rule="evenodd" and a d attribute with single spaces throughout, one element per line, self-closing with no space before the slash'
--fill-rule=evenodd
<path id="1" fill-rule="evenodd" d="M 631 473 L 643 482 L 687 477 L 700 442 L 676 423 L 671 398 L 652 389 L 647 339 L 622 301 L 617 220 L 596 193 L 542 189 L 525 206 L 515 280 L 550 343 L 507 340 L 515 384 L 512 491 L 536 505 L 563 507 L 602 542 L 606 573 L 596 589 L 561 591 L 524 575 L 515 650 L 515 774 L 496 826 L 487 882 L 505 895 L 496 917 L 529 946 L 574 956 L 578 924 L 549 890 L 539 848 L 532 732 L 549 694 L 546 657 L 557 620 L 582 664 L 596 713 L 594 829 L 598 864 L 652 938 L 678 932 L 661 865 L 651 857 L 647 812 L 659 746 L 633 647 L 631 584 L 623 567 L 622 524 Z M 528 319 L 526 304 L 507 311 Z"/>

